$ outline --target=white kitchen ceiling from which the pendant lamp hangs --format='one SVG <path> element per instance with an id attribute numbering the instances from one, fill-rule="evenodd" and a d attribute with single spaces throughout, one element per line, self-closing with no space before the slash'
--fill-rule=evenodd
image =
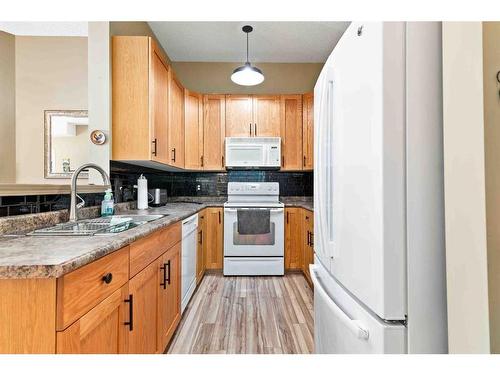
<path id="1" fill-rule="evenodd" d="M 349 22 L 149 22 L 173 61 L 325 62 Z"/>

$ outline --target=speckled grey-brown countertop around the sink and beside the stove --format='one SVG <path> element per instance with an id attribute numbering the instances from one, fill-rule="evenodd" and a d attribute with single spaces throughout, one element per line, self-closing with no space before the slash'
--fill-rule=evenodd
<path id="1" fill-rule="evenodd" d="M 191 203 L 184 199 L 148 210 L 120 210 L 119 214 L 168 216 L 111 236 L 0 236 L 0 279 L 60 277 L 206 207 L 220 207 L 224 200 Z M 283 197 L 282 201 L 286 206 L 312 210 L 311 199 Z"/>

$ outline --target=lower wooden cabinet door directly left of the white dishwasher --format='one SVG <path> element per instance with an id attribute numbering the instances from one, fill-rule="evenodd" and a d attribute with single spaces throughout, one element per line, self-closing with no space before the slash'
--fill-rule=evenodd
<path id="1" fill-rule="evenodd" d="M 181 243 L 156 262 L 158 270 L 158 345 L 163 353 L 181 319 Z"/>

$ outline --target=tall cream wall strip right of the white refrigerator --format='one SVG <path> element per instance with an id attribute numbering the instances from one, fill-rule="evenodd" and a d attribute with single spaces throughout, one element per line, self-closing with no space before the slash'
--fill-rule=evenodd
<path id="1" fill-rule="evenodd" d="M 451 353 L 490 351 L 482 56 L 481 22 L 443 23 L 446 270 Z"/>

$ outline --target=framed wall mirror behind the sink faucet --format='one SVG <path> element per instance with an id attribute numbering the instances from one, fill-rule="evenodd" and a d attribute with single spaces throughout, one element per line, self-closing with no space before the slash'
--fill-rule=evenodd
<path id="1" fill-rule="evenodd" d="M 71 178 L 78 166 L 88 162 L 88 112 L 46 110 L 45 178 Z M 80 178 L 88 178 L 82 172 Z"/>

